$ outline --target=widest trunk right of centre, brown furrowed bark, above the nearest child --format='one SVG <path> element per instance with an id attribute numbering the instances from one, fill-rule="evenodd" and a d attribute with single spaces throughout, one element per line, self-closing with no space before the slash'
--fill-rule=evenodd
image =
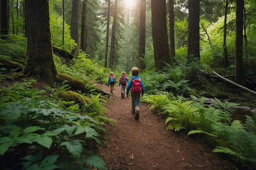
<path id="1" fill-rule="evenodd" d="M 151 17 L 155 68 L 159 71 L 165 63 L 173 64 L 167 35 L 166 0 L 151 0 Z"/>

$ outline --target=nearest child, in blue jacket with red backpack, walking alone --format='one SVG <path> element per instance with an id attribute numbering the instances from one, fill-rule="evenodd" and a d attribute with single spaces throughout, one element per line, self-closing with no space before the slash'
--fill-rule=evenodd
<path id="1" fill-rule="evenodd" d="M 135 113 L 135 119 L 139 119 L 139 100 L 140 96 L 143 97 L 145 92 L 144 83 L 139 77 L 139 68 L 132 68 L 132 77 L 130 77 L 127 88 L 126 88 L 126 97 L 131 89 L 131 98 L 132 98 L 132 113 Z"/>

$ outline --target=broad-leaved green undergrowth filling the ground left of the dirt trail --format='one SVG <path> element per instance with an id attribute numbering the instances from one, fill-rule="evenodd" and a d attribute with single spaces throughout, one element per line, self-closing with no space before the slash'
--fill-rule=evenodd
<path id="1" fill-rule="evenodd" d="M 94 151 L 102 147 L 106 102 L 100 95 L 84 96 L 84 101 L 64 101 L 58 93 L 67 85 L 34 88 L 34 79 L 0 88 L 1 168 L 22 170 L 106 170 Z"/>

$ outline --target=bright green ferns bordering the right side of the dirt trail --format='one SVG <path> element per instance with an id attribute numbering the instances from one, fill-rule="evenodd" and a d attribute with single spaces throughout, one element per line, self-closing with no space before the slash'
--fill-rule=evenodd
<path id="1" fill-rule="evenodd" d="M 232 106 L 238 104 L 218 102 L 204 105 L 206 97 L 200 99 L 191 96 L 174 97 L 172 93 L 162 95 L 146 95 L 143 102 L 166 119 L 167 129 L 189 131 L 191 134 L 202 134 L 207 142 L 215 146 L 213 152 L 229 155 L 237 166 L 244 169 L 256 168 L 256 123 L 255 118 L 246 116 L 245 124 L 239 120 L 232 121 Z"/>

